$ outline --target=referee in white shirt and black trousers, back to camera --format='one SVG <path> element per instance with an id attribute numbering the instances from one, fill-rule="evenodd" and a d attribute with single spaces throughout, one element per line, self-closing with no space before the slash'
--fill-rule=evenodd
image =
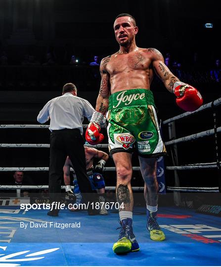
<path id="1" fill-rule="evenodd" d="M 92 189 L 86 170 L 82 123 L 84 117 L 90 120 L 93 112 L 94 108 L 91 104 L 78 97 L 76 86 L 69 83 L 64 85 L 62 96 L 48 101 L 37 117 L 39 123 L 45 123 L 50 119 L 50 203 L 60 201 L 63 166 L 67 156 L 73 163 L 80 191 L 83 192 L 86 201 L 92 201 Z M 53 209 L 47 215 L 58 216 L 58 212 L 59 209 Z M 91 205 L 89 205 L 88 214 L 94 215 L 94 213 L 96 210 L 92 210 Z"/>

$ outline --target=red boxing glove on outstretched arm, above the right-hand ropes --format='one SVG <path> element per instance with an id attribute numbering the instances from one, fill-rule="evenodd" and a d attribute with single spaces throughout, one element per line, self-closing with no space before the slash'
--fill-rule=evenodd
<path id="1" fill-rule="evenodd" d="M 185 111 L 197 110 L 203 104 L 200 92 L 190 85 L 176 82 L 173 90 L 177 96 L 177 105 Z"/>

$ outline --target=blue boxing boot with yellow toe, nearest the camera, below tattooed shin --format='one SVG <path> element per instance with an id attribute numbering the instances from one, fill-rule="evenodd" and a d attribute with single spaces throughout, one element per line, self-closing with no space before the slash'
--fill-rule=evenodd
<path id="1" fill-rule="evenodd" d="M 118 241 L 113 245 L 113 252 L 117 254 L 134 252 L 139 250 L 139 245 L 133 234 L 133 221 L 130 218 L 119 220 L 121 227 Z"/>

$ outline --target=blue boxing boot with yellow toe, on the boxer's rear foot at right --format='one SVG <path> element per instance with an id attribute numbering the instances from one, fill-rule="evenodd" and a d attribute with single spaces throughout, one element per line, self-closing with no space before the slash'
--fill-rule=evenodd
<path id="1" fill-rule="evenodd" d="M 150 232 L 150 239 L 154 241 L 165 240 L 165 234 L 157 223 L 157 212 L 150 212 L 147 210 L 146 228 Z"/>

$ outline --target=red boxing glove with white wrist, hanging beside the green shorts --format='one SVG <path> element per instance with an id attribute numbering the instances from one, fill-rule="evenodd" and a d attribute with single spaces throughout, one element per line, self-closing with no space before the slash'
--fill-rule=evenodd
<path id="1" fill-rule="evenodd" d="M 103 123 L 104 115 L 98 111 L 94 111 L 88 128 L 86 130 L 86 141 L 95 145 L 103 141 L 104 135 L 100 134 L 100 125 Z"/>

